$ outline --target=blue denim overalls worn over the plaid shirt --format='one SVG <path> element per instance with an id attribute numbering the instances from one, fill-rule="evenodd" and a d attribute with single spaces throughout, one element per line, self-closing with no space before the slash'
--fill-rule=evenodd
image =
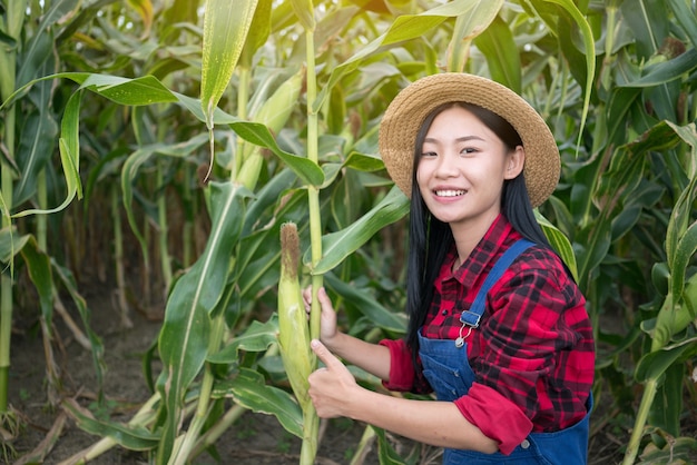
<path id="1" fill-rule="evenodd" d="M 532 243 L 520 239 L 513 244 L 494 264 L 482 288 L 477 295 L 469 311 L 463 311 L 460 320 L 470 328 L 479 325 L 484 311 L 487 291 L 501 277 L 509 265 L 520 253 Z M 469 329 L 468 329 L 469 330 Z M 464 336 L 467 337 L 467 335 Z M 439 400 L 452 402 L 468 393 L 474 382 L 474 372 L 470 368 L 467 358 L 467 343 L 464 338 L 429 339 L 419 335 L 423 375 L 435 392 Z M 458 344 L 461 344 L 458 346 Z M 460 360 L 459 364 L 454 360 Z M 500 452 L 483 454 L 473 451 L 445 448 L 443 465 L 474 465 L 474 464 L 565 464 L 580 465 L 587 463 L 589 416 L 592 407 L 592 396 L 588 399 L 588 414 L 576 425 L 556 433 L 531 433 L 510 455 Z"/>

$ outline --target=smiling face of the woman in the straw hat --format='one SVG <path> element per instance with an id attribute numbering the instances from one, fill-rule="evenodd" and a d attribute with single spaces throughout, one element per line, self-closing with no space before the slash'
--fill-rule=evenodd
<path id="1" fill-rule="evenodd" d="M 501 211 L 503 181 L 523 168 L 522 147 L 510 151 L 472 112 L 451 107 L 431 123 L 416 168 L 423 200 L 453 228 L 489 228 Z"/>

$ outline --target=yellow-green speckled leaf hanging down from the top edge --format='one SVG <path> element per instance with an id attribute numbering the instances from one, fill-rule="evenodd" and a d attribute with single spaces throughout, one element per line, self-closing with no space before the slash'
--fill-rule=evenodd
<path id="1" fill-rule="evenodd" d="M 204 16 L 200 106 L 208 129 L 237 66 L 257 0 L 207 0 Z"/>

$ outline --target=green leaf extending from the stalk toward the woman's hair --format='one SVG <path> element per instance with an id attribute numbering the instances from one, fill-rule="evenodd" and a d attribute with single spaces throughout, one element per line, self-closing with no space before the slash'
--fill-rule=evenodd
<path id="1" fill-rule="evenodd" d="M 363 246 L 375 233 L 394 221 L 400 220 L 409 212 L 409 199 L 399 188 L 393 187 L 380 204 L 373 207 L 359 220 L 337 233 L 322 237 L 323 256 L 313 267 L 313 275 L 323 275 L 344 258 Z M 310 263 L 307 256 L 303 261 Z"/>

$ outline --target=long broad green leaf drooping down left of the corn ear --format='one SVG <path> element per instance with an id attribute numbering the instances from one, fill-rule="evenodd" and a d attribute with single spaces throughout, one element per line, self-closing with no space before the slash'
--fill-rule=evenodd
<path id="1" fill-rule="evenodd" d="M 230 256 L 239 238 L 245 192 L 233 184 L 209 182 L 212 230 L 202 256 L 177 280 L 167 300 L 158 344 L 158 383 L 167 410 L 158 461 L 166 463 L 181 422 L 183 399 L 208 350 L 210 313 L 226 287 Z"/>

